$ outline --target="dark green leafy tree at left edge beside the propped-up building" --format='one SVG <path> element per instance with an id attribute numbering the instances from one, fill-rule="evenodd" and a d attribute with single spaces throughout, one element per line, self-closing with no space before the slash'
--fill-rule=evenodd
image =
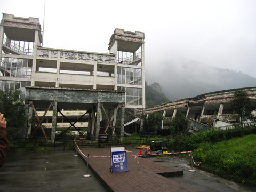
<path id="1" fill-rule="evenodd" d="M 23 126 L 25 108 L 20 93 L 13 89 L 0 90 L 0 112 L 6 118 L 9 138 L 20 137 Z"/>

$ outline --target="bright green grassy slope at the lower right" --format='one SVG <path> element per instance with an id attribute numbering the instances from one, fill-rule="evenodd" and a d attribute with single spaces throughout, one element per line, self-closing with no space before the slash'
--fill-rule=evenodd
<path id="1" fill-rule="evenodd" d="M 201 143 L 193 156 L 203 166 L 234 177 L 256 180 L 256 135 L 228 141 Z"/>

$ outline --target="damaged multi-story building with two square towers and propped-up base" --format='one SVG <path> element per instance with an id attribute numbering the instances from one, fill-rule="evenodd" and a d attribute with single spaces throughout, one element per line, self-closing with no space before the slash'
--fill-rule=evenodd
<path id="1" fill-rule="evenodd" d="M 98 137 L 104 115 L 104 132 L 109 127 L 121 137 L 126 125 L 140 122 L 142 126 L 135 111 L 145 113 L 144 39 L 142 32 L 115 29 L 108 54 L 46 48 L 42 47 L 38 18 L 3 13 L 0 89 L 21 91 L 28 109 L 22 132 L 29 138 L 42 129 L 46 138 L 54 140 L 57 124 L 64 119 L 68 129 L 78 132 L 75 123 L 86 122 L 87 134 Z M 42 111 L 43 115 L 38 115 Z M 46 122 L 46 114 L 51 115 L 50 122 Z M 118 125 L 117 114 L 121 119 Z M 31 121 L 33 117 L 37 124 Z M 42 123 L 51 124 L 50 135 Z"/>

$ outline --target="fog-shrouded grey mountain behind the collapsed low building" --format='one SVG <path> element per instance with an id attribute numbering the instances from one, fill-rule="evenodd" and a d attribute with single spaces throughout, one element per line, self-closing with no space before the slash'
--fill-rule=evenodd
<path id="1" fill-rule="evenodd" d="M 225 69 L 225 66 L 217 68 L 183 59 L 171 59 L 154 68 L 146 68 L 146 81 L 149 84 L 158 82 L 171 101 L 213 91 L 256 86 L 256 78 Z"/>

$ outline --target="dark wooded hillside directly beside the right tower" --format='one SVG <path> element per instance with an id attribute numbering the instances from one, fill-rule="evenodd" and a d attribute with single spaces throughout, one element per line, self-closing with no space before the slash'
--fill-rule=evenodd
<path id="1" fill-rule="evenodd" d="M 153 107 L 169 101 L 169 99 L 163 93 L 162 87 L 157 82 L 151 85 L 148 85 L 146 82 L 145 92 L 146 108 Z"/>

